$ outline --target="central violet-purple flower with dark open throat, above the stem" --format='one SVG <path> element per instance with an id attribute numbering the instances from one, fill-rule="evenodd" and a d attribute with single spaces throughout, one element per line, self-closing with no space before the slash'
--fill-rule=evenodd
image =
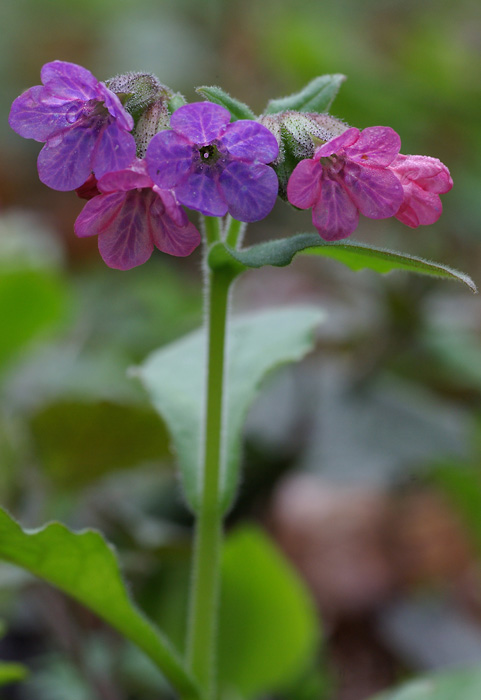
<path id="1" fill-rule="evenodd" d="M 255 121 L 229 122 L 227 109 L 211 102 L 179 107 L 171 129 L 151 140 L 147 168 L 155 184 L 173 189 L 186 207 L 258 221 L 277 197 L 277 175 L 266 165 L 278 155 L 277 139 Z"/>

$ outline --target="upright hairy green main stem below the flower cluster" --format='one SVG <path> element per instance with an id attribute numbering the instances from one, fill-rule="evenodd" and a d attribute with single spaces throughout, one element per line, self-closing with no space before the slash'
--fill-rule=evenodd
<path id="1" fill-rule="evenodd" d="M 216 697 L 216 639 L 220 593 L 222 508 L 219 482 L 226 320 L 231 274 L 206 271 L 208 361 L 203 490 L 196 524 L 190 594 L 188 661 L 209 700 Z"/>

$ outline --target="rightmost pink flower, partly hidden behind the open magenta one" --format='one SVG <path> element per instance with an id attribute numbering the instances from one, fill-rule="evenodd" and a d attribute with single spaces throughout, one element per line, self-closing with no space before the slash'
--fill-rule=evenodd
<path id="1" fill-rule="evenodd" d="M 449 170 L 437 158 L 398 155 L 389 169 L 398 176 L 404 192 L 403 202 L 395 214 L 403 224 L 417 228 L 434 224 L 443 211 L 440 194 L 449 192 L 453 181 Z"/>

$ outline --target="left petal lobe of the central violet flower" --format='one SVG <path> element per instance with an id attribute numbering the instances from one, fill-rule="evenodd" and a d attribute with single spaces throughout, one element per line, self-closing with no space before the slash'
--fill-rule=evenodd
<path id="1" fill-rule="evenodd" d="M 192 146 L 174 131 L 156 134 L 145 154 L 150 177 L 158 187 L 165 190 L 185 179 L 192 167 L 192 159 Z"/>

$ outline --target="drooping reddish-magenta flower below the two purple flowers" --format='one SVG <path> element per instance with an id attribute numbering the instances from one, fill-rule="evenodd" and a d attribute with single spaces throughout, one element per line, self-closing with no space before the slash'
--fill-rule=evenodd
<path id="1" fill-rule="evenodd" d="M 83 238 L 98 235 L 99 252 L 109 267 L 130 270 L 146 262 L 156 246 L 163 253 L 184 257 L 200 243 L 172 192 L 158 188 L 144 161 L 107 173 L 97 182 L 101 194 L 85 205 L 75 222 Z M 94 193 L 92 183 L 85 194 Z"/>

